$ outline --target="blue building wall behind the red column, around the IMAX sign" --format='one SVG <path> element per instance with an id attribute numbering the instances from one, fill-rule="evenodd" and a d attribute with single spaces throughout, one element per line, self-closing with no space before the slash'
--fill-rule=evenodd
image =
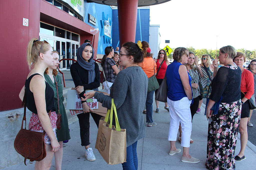
<path id="1" fill-rule="evenodd" d="M 118 28 L 118 10 L 108 5 L 97 3 L 89 3 L 84 0 L 84 22 L 93 26 L 88 22 L 88 14 L 96 18 L 96 26 L 99 28 L 98 54 L 105 54 L 104 50 L 107 46 L 113 46 L 115 49 L 120 47 L 119 28 Z M 135 42 L 138 40 L 149 42 L 149 16 L 150 9 L 138 9 Z M 109 20 L 111 26 L 111 38 L 104 35 L 103 20 Z M 84 41 L 84 40 L 81 40 Z M 93 40 L 94 41 L 94 40 Z M 97 40 L 95 40 L 97 41 Z"/>

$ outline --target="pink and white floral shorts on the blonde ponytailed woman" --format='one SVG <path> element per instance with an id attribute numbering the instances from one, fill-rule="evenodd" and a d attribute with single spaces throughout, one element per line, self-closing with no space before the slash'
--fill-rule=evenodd
<path id="1" fill-rule="evenodd" d="M 50 121 L 51 121 L 52 130 L 53 130 L 53 132 L 55 134 L 55 137 L 57 139 L 57 135 L 56 135 L 57 114 L 56 114 L 56 112 L 51 112 Z M 30 117 L 30 121 L 28 123 L 28 129 L 32 130 L 32 131 L 36 131 L 36 132 L 44 132 L 44 129 L 42 127 L 42 124 L 41 124 L 37 114 L 32 113 L 32 115 Z M 48 144 L 48 145 L 51 144 L 50 137 L 47 135 L 47 133 L 45 133 L 45 139 L 44 140 L 45 140 L 46 144 Z"/>

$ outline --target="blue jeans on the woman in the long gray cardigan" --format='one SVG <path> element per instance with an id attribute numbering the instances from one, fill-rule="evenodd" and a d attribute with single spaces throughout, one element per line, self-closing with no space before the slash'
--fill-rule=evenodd
<path id="1" fill-rule="evenodd" d="M 137 170 L 137 141 L 126 148 L 126 162 L 122 163 L 123 170 Z"/>

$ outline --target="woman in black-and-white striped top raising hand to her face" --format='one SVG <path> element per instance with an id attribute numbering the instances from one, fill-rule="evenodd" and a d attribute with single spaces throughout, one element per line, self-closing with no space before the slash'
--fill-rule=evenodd
<path id="1" fill-rule="evenodd" d="M 193 120 L 193 116 L 197 111 L 197 107 L 199 104 L 199 96 L 200 96 L 200 89 L 198 83 L 200 82 L 199 76 L 204 77 L 207 79 L 207 73 L 204 69 L 201 69 L 200 65 L 198 64 L 198 57 L 195 56 L 193 52 L 189 52 L 188 55 L 188 63 L 185 65 L 187 67 L 188 73 L 191 76 L 191 87 L 192 87 L 192 94 L 194 102 L 190 106 L 191 111 L 191 121 Z M 203 84 L 203 83 L 201 83 Z M 181 126 L 179 127 L 179 141 L 181 141 Z M 193 140 L 190 139 L 190 143 L 193 143 Z"/>

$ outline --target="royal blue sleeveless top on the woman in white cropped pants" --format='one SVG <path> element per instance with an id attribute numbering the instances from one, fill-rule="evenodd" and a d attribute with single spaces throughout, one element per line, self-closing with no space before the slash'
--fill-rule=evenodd
<path id="1" fill-rule="evenodd" d="M 178 101 L 183 97 L 187 97 L 179 76 L 179 66 L 182 65 L 177 61 L 173 61 L 166 69 L 167 97 L 172 101 Z M 191 87 L 191 77 L 188 74 L 188 81 Z"/>

